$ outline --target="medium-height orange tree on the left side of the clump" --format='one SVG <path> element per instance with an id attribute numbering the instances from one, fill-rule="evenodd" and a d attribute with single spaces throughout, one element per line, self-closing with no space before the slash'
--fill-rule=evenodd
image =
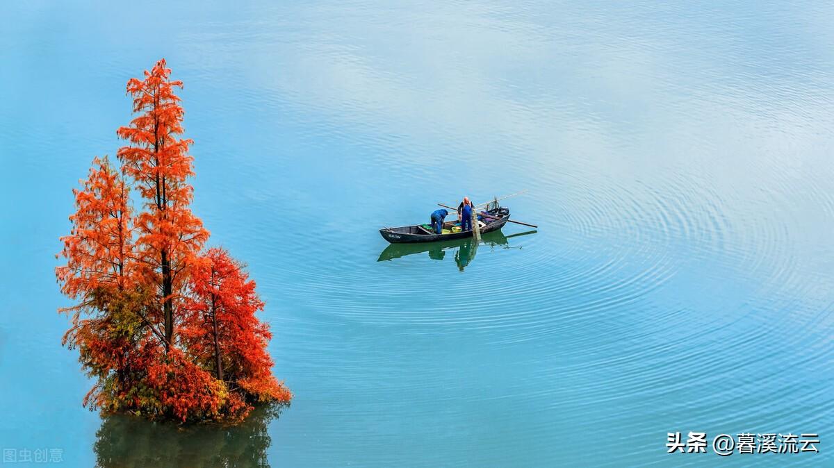
<path id="1" fill-rule="evenodd" d="M 120 391 L 135 343 L 148 324 L 136 282 L 128 185 L 107 157 L 97 157 L 73 194 L 73 227 L 61 238 L 67 264 L 58 266 L 56 276 L 61 291 L 77 301 L 61 310 L 72 320 L 63 343 L 78 347 L 83 368 L 97 377 L 85 398 L 85 404 L 95 405 L 108 391 Z"/>

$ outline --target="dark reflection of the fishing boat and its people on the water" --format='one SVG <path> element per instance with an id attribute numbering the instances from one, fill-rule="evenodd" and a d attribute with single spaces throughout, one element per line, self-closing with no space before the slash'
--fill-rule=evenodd
<path id="1" fill-rule="evenodd" d="M 418 244 L 389 244 L 385 249 L 379 253 L 377 261 L 390 261 L 395 258 L 400 258 L 409 255 L 419 255 L 428 253 L 432 260 L 443 260 L 446 256 L 446 251 L 454 250 L 455 264 L 457 264 L 460 271 L 464 271 L 466 266 L 475 259 L 475 254 L 478 252 L 479 246 L 509 246 L 511 237 L 526 236 L 534 234 L 536 231 L 519 232 L 510 236 L 505 236 L 503 232 L 488 232 L 481 237 L 480 242 L 475 242 L 471 237 L 469 239 L 458 239 L 457 241 L 443 241 L 443 242 L 426 242 Z"/>

